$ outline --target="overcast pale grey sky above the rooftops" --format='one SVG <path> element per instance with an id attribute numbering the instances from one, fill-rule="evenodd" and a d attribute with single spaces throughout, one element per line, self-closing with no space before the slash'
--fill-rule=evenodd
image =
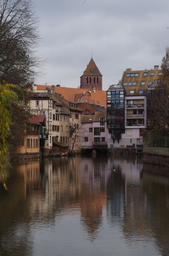
<path id="1" fill-rule="evenodd" d="M 169 46 L 168 0 L 34 0 L 42 37 L 38 54 L 45 74 L 36 84 L 77 88 L 92 58 L 102 90 L 126 68 L 161 65 Z"/>

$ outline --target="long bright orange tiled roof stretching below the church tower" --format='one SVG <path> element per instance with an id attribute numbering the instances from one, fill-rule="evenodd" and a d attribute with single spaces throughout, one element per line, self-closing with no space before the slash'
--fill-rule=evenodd
<path id="1" fill-rule="evenodd" d="M 36 85 L 37 90 L 46 90 L 46 87 L 51 86 L 46 86 L 46 85 Z M 80 89 L 80 88 L 70 88 L 70 87 L 61 87 L 61 86 L 55 86 L 55 92 L 57 94 L 61 94 L 64 96 L 64 98 L 70 102 L 73 102 L 74 94 L 79 95 L 79 98 L 82 97 L 83 92 L 85 92 L 86 89 Z M 96 90 L 95 92 L 91 91 L 91 99 L 94 101 L 95 104 L 103 105 L 106 107 L 107 105 L 107 92 L 102 91 L 102 90 Z M 76 101 L 78 102 L 78 99 L 76 97 Z"/>

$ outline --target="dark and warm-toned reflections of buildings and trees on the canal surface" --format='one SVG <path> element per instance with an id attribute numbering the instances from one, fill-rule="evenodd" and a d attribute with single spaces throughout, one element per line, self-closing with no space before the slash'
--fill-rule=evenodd
<path id="1" fill-rule="evenodd" d="M 12 165 L 9 191 L 1 187 L 0 193 L 2 254 L 13 250 L 17 255 L 21 246 L 21 255 L 31 255 L 31 225 L 54 225 L 65 214 L 79 216 L 90 241 L 98 239 L 106 218 L 107 228 L 119 225 L 128 246 L 135 240 L 145 244 L 150 240 L 162 255 L 169 252 L 169 177 L 161 175 L 163 167 L 143 165 L 141 156 L 120 155 L 77 155 Z"/>

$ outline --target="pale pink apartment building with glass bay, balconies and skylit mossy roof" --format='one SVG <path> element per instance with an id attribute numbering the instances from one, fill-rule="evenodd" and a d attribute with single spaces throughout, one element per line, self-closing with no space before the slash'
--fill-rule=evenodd
<path id="1" fill-rule="evenodd" d="M 147 89 L 154 80 L 159 80 L 162 70 L 123 72 L 118 85 L 107 90 L 108 148 L 136 148 L 142 145 L 142 130 L 151 122 L 147 119 Z"/>

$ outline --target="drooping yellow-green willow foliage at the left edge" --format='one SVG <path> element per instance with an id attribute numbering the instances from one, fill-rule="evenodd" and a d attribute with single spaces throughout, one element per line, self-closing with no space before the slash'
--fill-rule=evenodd
<path id="1" fill-rule="evenodd" d="M 0 83 L 0 172 L 3 178 L 7 174 L 6 169 L 9 165 L 7 154 L 9 152 L 9 143 L 7 139 L 11 135 L 13 103 L 19 102 L 17 93 L 13 89 L 19 90 L 19 87 L 12 84 Z M 4 187 L 6 188 L 5 182 Z"/>

